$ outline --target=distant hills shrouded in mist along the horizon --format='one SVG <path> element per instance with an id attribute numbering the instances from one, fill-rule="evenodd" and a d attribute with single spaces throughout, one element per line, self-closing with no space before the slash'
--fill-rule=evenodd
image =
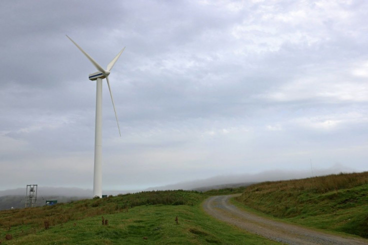
<path id="1" fill-rule="evenodd" d="M 349 169 L 342 169 L 340 166 L 334 166 L 327 169 L 314 169 L 315 175 L 326 175 L 330 173 L 338 173 L 341 171 L 349 171 Z M 285 171 L 285 170 L 272 170 L 263 171 L 256 174 L 233 174 L 233 175 L 221 175 L 214 176 L 205 179 L 197 179 L 192 181 L 178 182 L 174 184 L 168 184 L 163 186 L 150 187 L 146 189 L 137 190 L 105 190 L 103 194 L 118 195 L 124 193 L 136 193 L 139 191 L 150 190 L 197 190 L 207 191 L 211 189 L 221 188 L 236 188 L 239 186 L 247 186 L 252 183 L 272 180 L 286 180 L 286 179 L 299 179 L 310 177 L 308 171 Z M 91 198 L 92 190 L 76 187 L 48 187 L 38 186 L 37 197 L 38 204 L 43 205 L 45 199 L 57 199 L 58 202 L 67 202 L 75 199 Z M 43 199 L 42 199 L 43 198 Z M 15 188 L 0 190 L 0 210 L 9 209 L 11 207 L 19 208 L 24 207 L 25 199 L 25 186 L 24 188 Z"/>

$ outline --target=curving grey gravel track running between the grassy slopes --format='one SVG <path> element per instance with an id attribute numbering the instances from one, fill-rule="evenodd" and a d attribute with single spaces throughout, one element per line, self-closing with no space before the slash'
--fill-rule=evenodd
<path id="1" fill-rule="evenodd" d="M 229 203 L 234 195 L 207 198 L 202 206 L 213 217 L 268 239 L 287 244 L 368 244 L 360 238 L 344 238 L 305 227 L 286 224 L 240 210 Z"/>

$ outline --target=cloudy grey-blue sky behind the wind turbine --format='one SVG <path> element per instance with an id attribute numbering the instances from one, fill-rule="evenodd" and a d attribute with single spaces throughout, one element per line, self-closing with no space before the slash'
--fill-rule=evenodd
<path id="1" fill-rule="evenodd" d="M 366 171 L 368 1 L 2 0 L 0 190 Z M 247 181 L 244 179 L 244 181 Z"/>

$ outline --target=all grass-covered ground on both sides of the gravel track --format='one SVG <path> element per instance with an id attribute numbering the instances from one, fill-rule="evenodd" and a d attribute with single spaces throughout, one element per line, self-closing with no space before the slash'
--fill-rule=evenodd
<path id="1" fill-rule="evenodd" d="M 287 222 L 368 237 L 368 172 L 206 192 L 146 191 L 0 211 L 2 244 L 274 244 L 204 213 L 211 195 Z M 108 220 L 102 225 L 102 216 Z M 177 216 L 177 222 L 175 218 Z"/>

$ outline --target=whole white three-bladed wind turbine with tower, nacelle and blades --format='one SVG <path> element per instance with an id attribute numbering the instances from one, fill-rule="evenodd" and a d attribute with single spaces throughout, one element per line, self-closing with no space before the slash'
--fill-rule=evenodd
<path id="1" fill-rule="evenodd" d="M 115 64 L 117 59 L 120 57 L 122 51 L 124 51 L 125 47 L 121 49 L 121 51 L 107 64 L 107 68 L 103 69 L 88 53 L 86 53 L 75 41 L 73 41 L 68 35 L 67 38 L 75 44 L 77 48 L 92 62 L 94 67 L 98 70 L 97 72 L 91 73 L 88 75 L 89 80 L 96 80 L 96 124 L 94 131 L 94 173 L 93 173 L 93 197 L 99 196 L 102 197 L 102 79 L 106 78 L 108 90 L 110 91 L 111 101 L 113 110 L 115 112 L 117 128 L 120 133 L 119 122 L 117 120 L 115 104 L 113 102 L 113 97 L 111 93 L 110 83 L 108 82 L 108 75 L 110 74 L 110 70 L 112 66 Z"/>

